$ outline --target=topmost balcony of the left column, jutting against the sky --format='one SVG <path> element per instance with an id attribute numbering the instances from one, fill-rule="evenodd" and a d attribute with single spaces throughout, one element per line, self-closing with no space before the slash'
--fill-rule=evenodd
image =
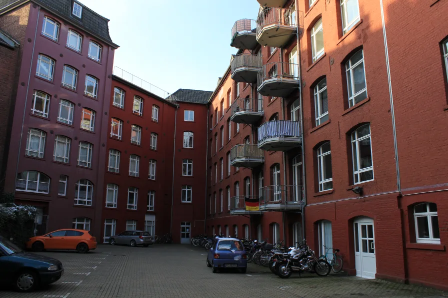
<path id="1" fill-rule="evenodd" d="M 230 42 L 230 46 L 252 50 L 257 45 L 256 20 L 244 18 L 235 21 L 232 27 L 232 41 Z"/>

